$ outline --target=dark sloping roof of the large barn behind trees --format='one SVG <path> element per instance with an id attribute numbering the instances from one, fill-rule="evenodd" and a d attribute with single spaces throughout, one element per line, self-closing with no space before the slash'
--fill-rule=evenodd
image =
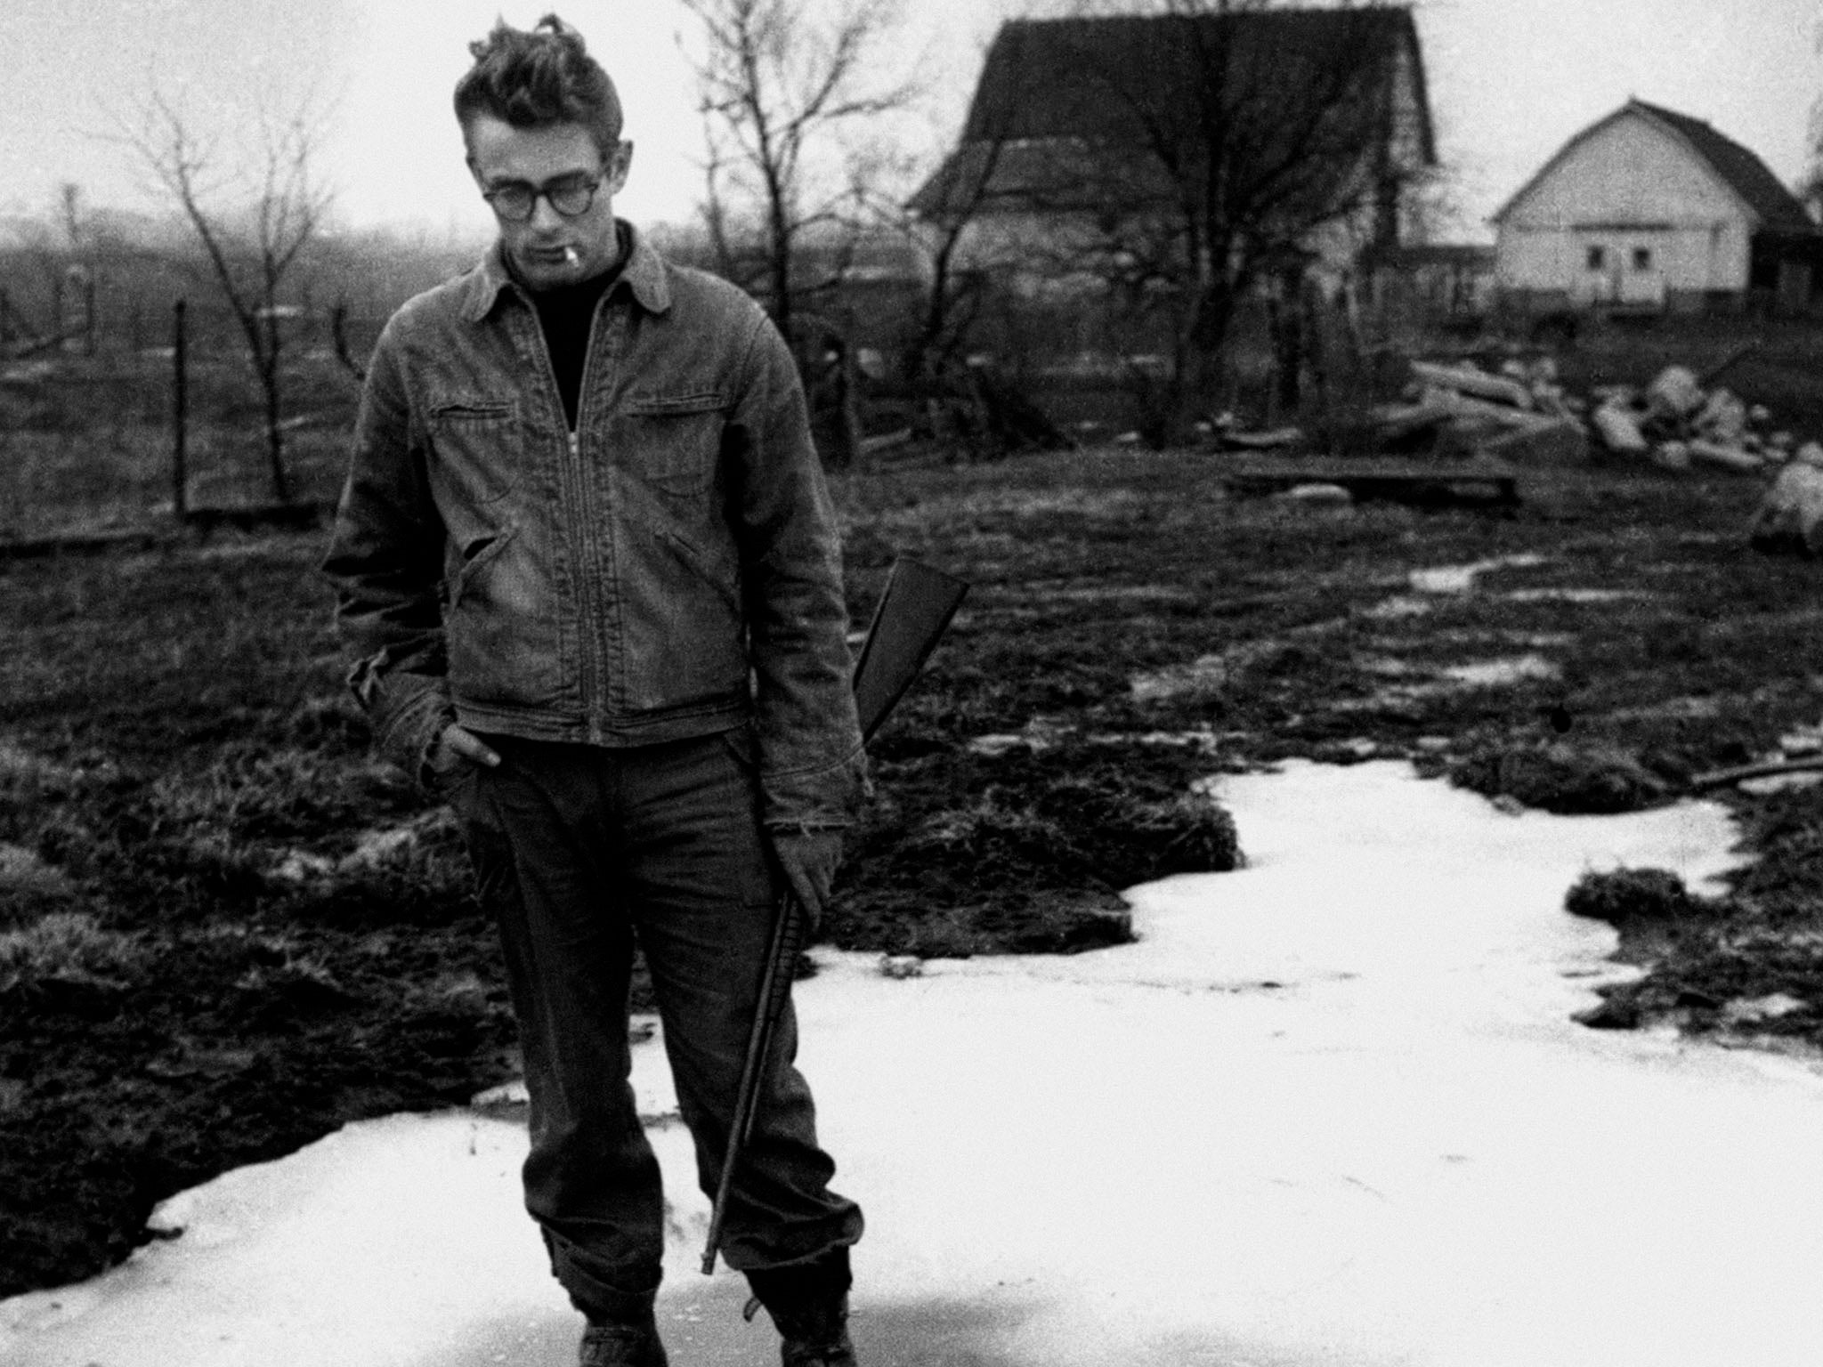
<path id="1" fill-rule="evenodd" d="M 1035 191 L 1059 166 L 1083 166 L 1087 148 L 1143 142 L 1148 118 L 1194 104 L 1212 60 L 1225 64 L 1229 86 L 1269 100 L 1272 89 L 1400 51 L 1416 75 L 1422 157 L 1435 164 L 1416 26 L 1404 5 L 1010 20 L 988 47 L 961 146 L 912 208 L 930 215 L 957 204 L 984 170 L 995 195 Z"/>

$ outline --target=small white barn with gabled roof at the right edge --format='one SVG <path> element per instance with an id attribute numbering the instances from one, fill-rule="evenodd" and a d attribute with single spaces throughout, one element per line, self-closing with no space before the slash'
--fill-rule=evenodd
<path id="1" fill-rule="evenodd" d="M 1823 233 L 1766 164 L 1699 118 L 1628 100 L 1493 215 L 1524 312 L 1808 304 Z"/>

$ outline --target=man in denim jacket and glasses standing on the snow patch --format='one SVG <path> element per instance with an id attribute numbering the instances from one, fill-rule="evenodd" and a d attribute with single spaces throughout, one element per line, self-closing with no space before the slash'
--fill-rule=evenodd
<path id="1" fill-rule="evenodd" d="M 530 1092 L 527 1208 L 589 1367 L 662 1367 L 638 940 L 713 1192 L 780 888 L 817 913 L 864 786 L 835 516 L 791 357 L 613 213 L 633 146 L 582 36 L 498 24 L 456 87 L 500 239 L 374 352 L 324 563 L 381 751 L 463 817 Z M 860 1210 L 786 1015 L 724 1256 L 793 1367 L 853 1363 Z"/>

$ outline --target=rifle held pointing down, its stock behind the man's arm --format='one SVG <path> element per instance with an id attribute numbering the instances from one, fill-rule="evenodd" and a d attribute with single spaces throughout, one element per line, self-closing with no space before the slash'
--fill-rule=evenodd
<path id="1" fill-rule="evenodd" d="M 886 592 L 873 609 L 868 636 L 855 662 L 855 711 L 860 714 L 860 744 L 873 733 L 912 687 L 917 671 L 924 667 L 937 640 L 955 616 L 968 585 L 942 570 L 901 558 L 886 580 Z M 773 1032 L 791 999 L 791 973 L 804 948 L 804 908 L 788 889 L 778 899 L 773 919 L 773 942 L 766 955 L 766 975 L 760 979 L 760 1002 L 753 1012 L 753 1030 L 747 1033 L 747 1055 L 740 1066 L 740 1090 L 735 1094 L 735 1117 L 727 1130 L 727 1152 L 722 1156 L 722 1179 L 709 1210 L 709 1241 L 702 1252 L 702 1272 L 715 1272 L 715 1256 L 722 1247 L 722 1219 L 727 1214 L 727 1194 L 735 1185 L 735 1168 L 753 1134 L 758 1112 L 760 1084 L 766 1081 L 766 1054 Z"/>

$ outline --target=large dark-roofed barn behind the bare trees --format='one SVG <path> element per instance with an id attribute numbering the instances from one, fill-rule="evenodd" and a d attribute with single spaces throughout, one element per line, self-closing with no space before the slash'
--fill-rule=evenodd
<path id="1" fill-rule="evenodd" d="M 1026 292 L 1081 275 L 1059 259 L 1081 264 L 1090 253 L 1070 244 L 1110 221 L 1128 255 L 1158 237 L 1198 250 L 1183 239 L 1221 228 L 1234 250 L 1263 239 L 1347 266 L 1407 235 L 1435 164 L 1406 7 L 1019 18 L 910 208 L 961 230 L 957 266 L 1025 277 Z M 1187 217 L 1207 222 L 1190 231 Z"/>

